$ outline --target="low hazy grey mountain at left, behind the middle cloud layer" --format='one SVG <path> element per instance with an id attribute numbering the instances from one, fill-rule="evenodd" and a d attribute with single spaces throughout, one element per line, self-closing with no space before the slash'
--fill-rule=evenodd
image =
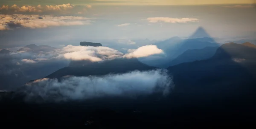
<path id="1" fill-rule="evenodd" d="M 48 46 L 48 45 L 40 45 L 37 46 L 35 44 L 31 44 L 31 45 L 26 45 L 23 48 L 20 48 L 18 51 L 27 51 L 27 52 L 39 52 L 39 51 L 44 51 L 44 52 L 50 52 L 53 51 L 57 48 Z"/>

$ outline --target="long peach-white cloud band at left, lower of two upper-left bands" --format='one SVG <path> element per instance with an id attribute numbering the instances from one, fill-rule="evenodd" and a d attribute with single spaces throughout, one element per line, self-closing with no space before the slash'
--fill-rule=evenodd
<path id="1" fill-rule="evenodd" d="M 9 30 L 13 26 L 47 28 L 49 26 L 89 25 L 90 22 L 92 21 L 89 18 L 75 16 L 54 17 L 50 15 L 0 14 L 0 30 Z"/>

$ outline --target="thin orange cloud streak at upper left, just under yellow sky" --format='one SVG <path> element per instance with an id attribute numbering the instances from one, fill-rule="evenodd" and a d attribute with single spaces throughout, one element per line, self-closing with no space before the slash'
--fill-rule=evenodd
<path id="1" fill-rule="evenodd" d="M 62 5 L 46 5 L 46 6 L 17 6 L 14 4 L 13 6 L 2 6 L 0 7 L 0 11 L 12 11 L 12 12 L 44 12 L 44 11 L 67 11 L 72 8 L 75 8 L 75 5 L 70 3 L 62 4 Z"/>

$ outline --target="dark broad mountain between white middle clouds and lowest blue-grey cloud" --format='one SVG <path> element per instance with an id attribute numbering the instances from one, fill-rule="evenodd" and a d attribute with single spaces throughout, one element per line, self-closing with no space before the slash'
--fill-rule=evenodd
<path id="1" fill-rule="evenodd" d="M 63 76 L 100 76 L 109 73 L 126 73 L 133 70 L 151 70 L 155 67 L 148 66 L 137 60 L 137 58 L 117 58 L 103 62 L 93 62 L 90 65 L 80 67 L 64 67 L 46 76 L 46 78 L 61 78 Z"/>

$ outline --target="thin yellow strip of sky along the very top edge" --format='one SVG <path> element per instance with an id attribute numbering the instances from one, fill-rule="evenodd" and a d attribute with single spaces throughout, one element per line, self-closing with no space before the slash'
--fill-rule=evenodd
<path id="1" fill-rule="evenodd" d="M 62 4 L 76 5 L 203 5 L 203 4 L 251 4 L 253 0 L 1 0 L 3 4 Z"/>

